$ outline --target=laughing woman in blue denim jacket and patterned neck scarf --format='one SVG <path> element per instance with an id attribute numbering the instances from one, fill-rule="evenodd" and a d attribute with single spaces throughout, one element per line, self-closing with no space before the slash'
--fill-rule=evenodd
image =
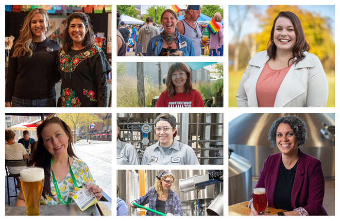
<path id="1" fill-rule="evenodd" d="M 175 51 L 182 51 L 182 56 L 196 56 L 192 40 L 179 34 L 176 13 L 170 9 L 161 15 L 164 31 L 152 37 L 149 41 L 146 56 L 171 56 Z"/>

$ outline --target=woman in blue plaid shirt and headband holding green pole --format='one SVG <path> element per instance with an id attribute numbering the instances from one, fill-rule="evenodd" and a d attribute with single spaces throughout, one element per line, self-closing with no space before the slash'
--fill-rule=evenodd
<path id="1" fill-rule="evenodd" d="M 139 199 L 131 202 L 130 206 L 136 208 L 139 205 L 149 204 L 149 208 L 167 214 L 167 216 L 182 216 L 183 209 L 177 194 L 172 191 L 175 177 L 169 171 L 161 172 L 156 176 L 155 184 L 148 192 Z M 159 216 L 147 211 L 146 216 Z"/>

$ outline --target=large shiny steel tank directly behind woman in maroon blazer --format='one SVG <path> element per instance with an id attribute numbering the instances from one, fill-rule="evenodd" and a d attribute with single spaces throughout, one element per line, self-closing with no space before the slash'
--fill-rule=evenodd
<path id="1" fill-rule="evenodd" d="M 250 160 L 253 165 L 253 176 L 259 176 L 269 154 L 280 153 L 278 148 L 270 148 L 268 131 L 276 119 L 287 115 L 289 114 L 243 114 L 229 122 L 229 145 L 235 153 Z M 334 178 L 334 136 L 333 139 L 325 138 L 320 130 L 324 126 L 330 128 L 335 126 L 335 114 L 290 115 L 297 115 L 306 122 L 309 140 L 304 146 L 299 147 L 301 151 L 322 162 L 325 178 Z"/>

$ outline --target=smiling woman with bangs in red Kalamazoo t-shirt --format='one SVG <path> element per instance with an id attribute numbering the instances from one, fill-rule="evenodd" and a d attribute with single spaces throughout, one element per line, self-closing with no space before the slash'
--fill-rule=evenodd
<path id="1" fill-rule="evenodd" d="M 204 107 L 200 92 L 192 89 L 191 73 L 183 63 L 170 66 L 167 90 L 158 98 L 156 107 Z"/>

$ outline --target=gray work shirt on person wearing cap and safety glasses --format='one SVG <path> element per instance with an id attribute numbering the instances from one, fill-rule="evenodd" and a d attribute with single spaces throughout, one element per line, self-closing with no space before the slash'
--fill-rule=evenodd
<path id="1" fill-rule="evenodd" d="M 173 138 L 172 146 L 164 155 L 161 153 L 160 148 L 161 147 L 159 141 L 148 147 L 144 152 L 142 164 L 149 165 L 200 164 L 192 147 L 178 142 L 175 138 Z"/>

